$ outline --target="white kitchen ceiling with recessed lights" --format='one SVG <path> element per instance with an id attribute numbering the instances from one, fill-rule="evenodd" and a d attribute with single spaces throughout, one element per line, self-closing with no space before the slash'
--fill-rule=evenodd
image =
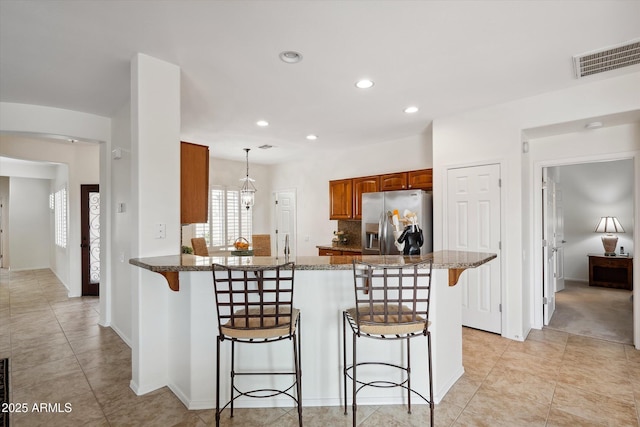
<path id="1" fill-rule="evenodd" d="M 637 72 L 577 80 L 572 56 L 639 36 L 633 0 L 0 0 L 0 101 L 112 116 L 141 52 L 181 67 L 183 140 L 235 160 L 274 145 L 251 151 L 258 163 L 329 159 L 437 117 Z M 303 61 L 281 62 L 284 50 Z M 356 89 L 362 77 L 375 86 Z"/>

